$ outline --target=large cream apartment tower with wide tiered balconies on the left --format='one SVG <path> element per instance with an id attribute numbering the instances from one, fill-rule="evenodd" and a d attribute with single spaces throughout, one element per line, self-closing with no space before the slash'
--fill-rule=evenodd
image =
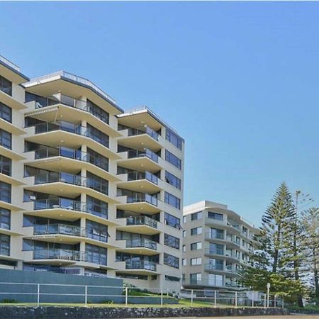
<path id="1" fill-rule="evenodd" d="M 184 140 L 82 77 L 0 57 L 0 267 L 181 286 Z"/>

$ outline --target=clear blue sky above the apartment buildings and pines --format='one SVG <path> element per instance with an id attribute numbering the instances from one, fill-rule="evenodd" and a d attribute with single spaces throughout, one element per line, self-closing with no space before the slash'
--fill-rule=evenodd
<path id="1" fill-rule="evenodd" d="M 316 2 L 1 2 L 0 54 L 149 106 L 186 140 L 184 202 L 259 224 L 281 181 L 319 198 L 318 16 Z"/>

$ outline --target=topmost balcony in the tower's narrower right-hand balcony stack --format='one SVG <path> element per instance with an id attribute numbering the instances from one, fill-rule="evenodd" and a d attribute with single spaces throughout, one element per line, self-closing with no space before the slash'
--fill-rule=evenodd
<path id="1" fill-rule="evenodd" d="M 121 132 L 123 132 L 123 137 L 118 138 L 118 144 L 125 147 L 138 149 L 140 145 L 144 145 L 154 151 L 162 148 L 158 133 L 147 125 L 139 128 L 126 128 Z"/>

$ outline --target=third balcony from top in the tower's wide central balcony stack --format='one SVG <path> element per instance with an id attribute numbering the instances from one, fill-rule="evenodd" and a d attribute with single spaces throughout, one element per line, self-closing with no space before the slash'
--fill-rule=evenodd
<path id="1" fill-rule="evenodd" d="M 30 152 L 30 151 L 29 151 Z M 77 173 L 80 168 L 89 170 L 99 177 L 108 179 L 108 181 L 118 181 L 118 177 L 108 172 L 108 160 L 103 157 L 96 157 L 89 152 L 82 152 L 69 147 L 50 147 L 41 145 L 34 150 L 33 167 L 58 171 L 65 167 L 67 172 Z M 50 160 L 47 160 L 50 159 Z"/>

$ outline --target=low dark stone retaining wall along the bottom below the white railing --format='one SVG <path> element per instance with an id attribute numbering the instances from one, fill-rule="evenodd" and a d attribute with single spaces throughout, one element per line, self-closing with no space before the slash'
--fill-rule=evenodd
<path id="1" fill-rule="evenodd" d="M 289 315 L 284 308 L 115 308 L 1 306 L 0 319 L 167 318 L 249 315 Z M 267 317 L 265 317 L 267 318 Z"/>

